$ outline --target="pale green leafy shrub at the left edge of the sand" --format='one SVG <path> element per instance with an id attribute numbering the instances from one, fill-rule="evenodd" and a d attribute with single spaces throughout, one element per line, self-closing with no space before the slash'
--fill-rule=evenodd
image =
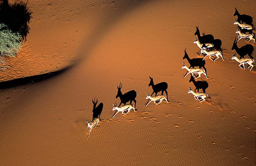
<path id="1" fill-rule="evenodd" d="M 0 23 L 0 56 L 15 57 L 20 49 L 22 36 L 12 32 L 5 24 Z"/>

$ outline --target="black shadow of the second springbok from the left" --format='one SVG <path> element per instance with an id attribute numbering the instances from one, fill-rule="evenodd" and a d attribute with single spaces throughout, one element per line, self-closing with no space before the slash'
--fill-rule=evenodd
<path id="1" fill-rule="evenodd" d="M 121 100 L 121 102 L 120 102 L 120 104 L 119 104 L 119 106 L 118 107 L 120 107 L 120 105 L 123 103 L 123 105 L 125 105 L 128 101 L 130 101 L 130 104 L 132 104 L 132 102 L 134 101 L 134 108 L 135 108 L 135 110 L 137 110 L 136 109 L 136 100 L 135 100 L 135 98 L 136 98 L 136 96 L 137 96 L 137 93 L 136 93 L 136 91 L 135 90 L 131 90 L 131 91 L 129 91 L 129 92 L 126 92 L 125 94 L 122 94 L 122 92 L 121 92 L 121 88 L 122 88 L 122 83 L 120 83 L 120 85 L 119 85 L 119 87 L 117 86 L 117 96 L 116 96 L 116 98 L 120 98 L 120 100 Z M 117 112 L 117 110 L 116 110 L 116 112 Z M 116 112 L 114 113 L 114 115 L 116 114 Z"/>

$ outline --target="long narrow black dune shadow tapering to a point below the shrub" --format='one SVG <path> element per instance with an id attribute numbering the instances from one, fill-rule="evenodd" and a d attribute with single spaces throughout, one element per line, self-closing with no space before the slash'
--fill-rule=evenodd
<path id="1" fill-rule="evenodd" d="M 61 73 L 64 73 L 69 68 L 70 67 L 64 68 L 60 71 L 54 71 L 54 72 L 30 76 L 30 77 L 23 77 L 23 78 L 17 78 L 14 80 L 3 81 L 3 82 L 0 82 L 0 89 L 7 89 L 7 88 L 16 87 L 16 86 L 27 85 L 30 83 L 36 83 L 36 82 L 39 82 L 42 80 L 47 80 L 47 79 L 55 77 Z"/>

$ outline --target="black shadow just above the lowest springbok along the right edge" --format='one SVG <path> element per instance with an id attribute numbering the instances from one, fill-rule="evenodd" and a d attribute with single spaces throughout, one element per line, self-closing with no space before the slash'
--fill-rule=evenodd
<path id="1" fill-rule="evenodd" d="M 245 46 L 238 48 L 237 41 L 235 38 L 231 50 L 234 49 L 236 50 L 236 53 L 238 53 L 238 55 L 240 56 L 240 59 L 244 58 L 244 56 L 247 54 L 251 59 L 253 59 L 253 56 L 251 54 L 254 52 L 254 47 L 251 44 L 246 44 Z"/>

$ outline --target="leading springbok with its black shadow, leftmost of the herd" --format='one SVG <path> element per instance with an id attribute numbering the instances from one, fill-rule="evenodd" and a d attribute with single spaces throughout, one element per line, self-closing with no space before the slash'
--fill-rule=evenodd
<path id="1" fill-rule="evenodd" d="M 92 122 L 87 122 L 87 127 L 90 128 L 89 129 L 89 136 L 88 138 L 90 137 L 90 134 L 91 134 L 91 131 L 92 131 L 92 128 L 97 126 L 99 120 L 100 120 L 100 115 L 101 115 L 101 112 L 102 112 L 102 109 L 103 109 L 103 103 L 100 103 L 97 107 L 97 103 L 98 103 L 98 98 L 97 100 L 95 101 L 95 98 L 94 98 L 94 101 L 92 100 L 92 103 L 93 103 L 93 109 L 92 109 Z"/>

